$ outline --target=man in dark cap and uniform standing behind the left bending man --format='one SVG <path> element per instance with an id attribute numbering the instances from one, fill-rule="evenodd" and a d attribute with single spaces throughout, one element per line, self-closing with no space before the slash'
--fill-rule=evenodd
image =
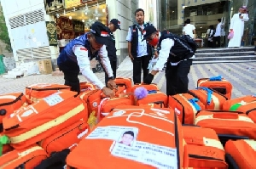
<path id="1" fill-rule="evenodd" d="M 113 32 L 120 28 L 120 22 L 117 19 L 110 20 L 108 25 L 108 35 L 109 42 L 107 46 L 108 58 L 110 60 L 110 65 L 113 70 L 113 77 L 116 77 L 116 69 L 117 69 L 117 57 L 116 57 L 116 48 L 115 48 L 115 38 L 113 36 Z M 108 83 L 108 73 L 105 71 L 105 83 Z"/>

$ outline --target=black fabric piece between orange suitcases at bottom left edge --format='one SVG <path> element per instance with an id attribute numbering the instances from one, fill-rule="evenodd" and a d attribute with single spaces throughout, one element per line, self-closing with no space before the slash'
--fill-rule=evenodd
<path id="1" fill-rule="evenodd" d="M 66 166 L 67 155 L 70 149 L 63 149 L 59 152 L 52 153 L 49 158 L 42 161 L 34 169 L 63 169 Z"/>

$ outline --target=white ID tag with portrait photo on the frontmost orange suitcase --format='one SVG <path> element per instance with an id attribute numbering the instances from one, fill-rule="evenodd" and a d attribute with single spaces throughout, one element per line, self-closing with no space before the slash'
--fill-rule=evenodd
<path id="1" fill-rule="evenodd" d="M 136 137 L 132 131 L 123 132 L 118 141 L 113 141 L 111 155 L 156 168 L 177 169 L 177 149 L 138 141 Z"/>

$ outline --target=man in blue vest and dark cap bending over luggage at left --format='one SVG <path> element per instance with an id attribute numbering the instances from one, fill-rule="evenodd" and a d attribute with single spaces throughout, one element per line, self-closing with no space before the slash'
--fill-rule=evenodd
<path id="1" fill-rule="evenodd" d="M 108 30 L 101 22 L 91 25 L 90 32 L 73 39 L 61 51 L 57 59 L 59 69 L 64 73 L 65 85 L 70 86 L 72 91 L 80 93 L 79 72 L 102 92 L 113 97 L 113 88 L 116 84 L 113 81 L 113 70 L 108 59 L 106 44 L 108 44 Z M 90 59 L 97 55 L 101 57 L 104 70 L 108 73 L 108 87 L 106 87 L 97 76 L 90 70 Z"/>

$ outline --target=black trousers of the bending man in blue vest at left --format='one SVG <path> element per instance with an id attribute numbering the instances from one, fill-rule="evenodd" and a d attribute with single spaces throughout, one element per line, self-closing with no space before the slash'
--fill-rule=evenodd
<path id="1" fill-rule="evenodd" d="M 66 61 L 58 65 L 64 73 L 65 85 L 71 87 L 74 92 L 80 93 L 79 65 L 73 61 Z"/>

